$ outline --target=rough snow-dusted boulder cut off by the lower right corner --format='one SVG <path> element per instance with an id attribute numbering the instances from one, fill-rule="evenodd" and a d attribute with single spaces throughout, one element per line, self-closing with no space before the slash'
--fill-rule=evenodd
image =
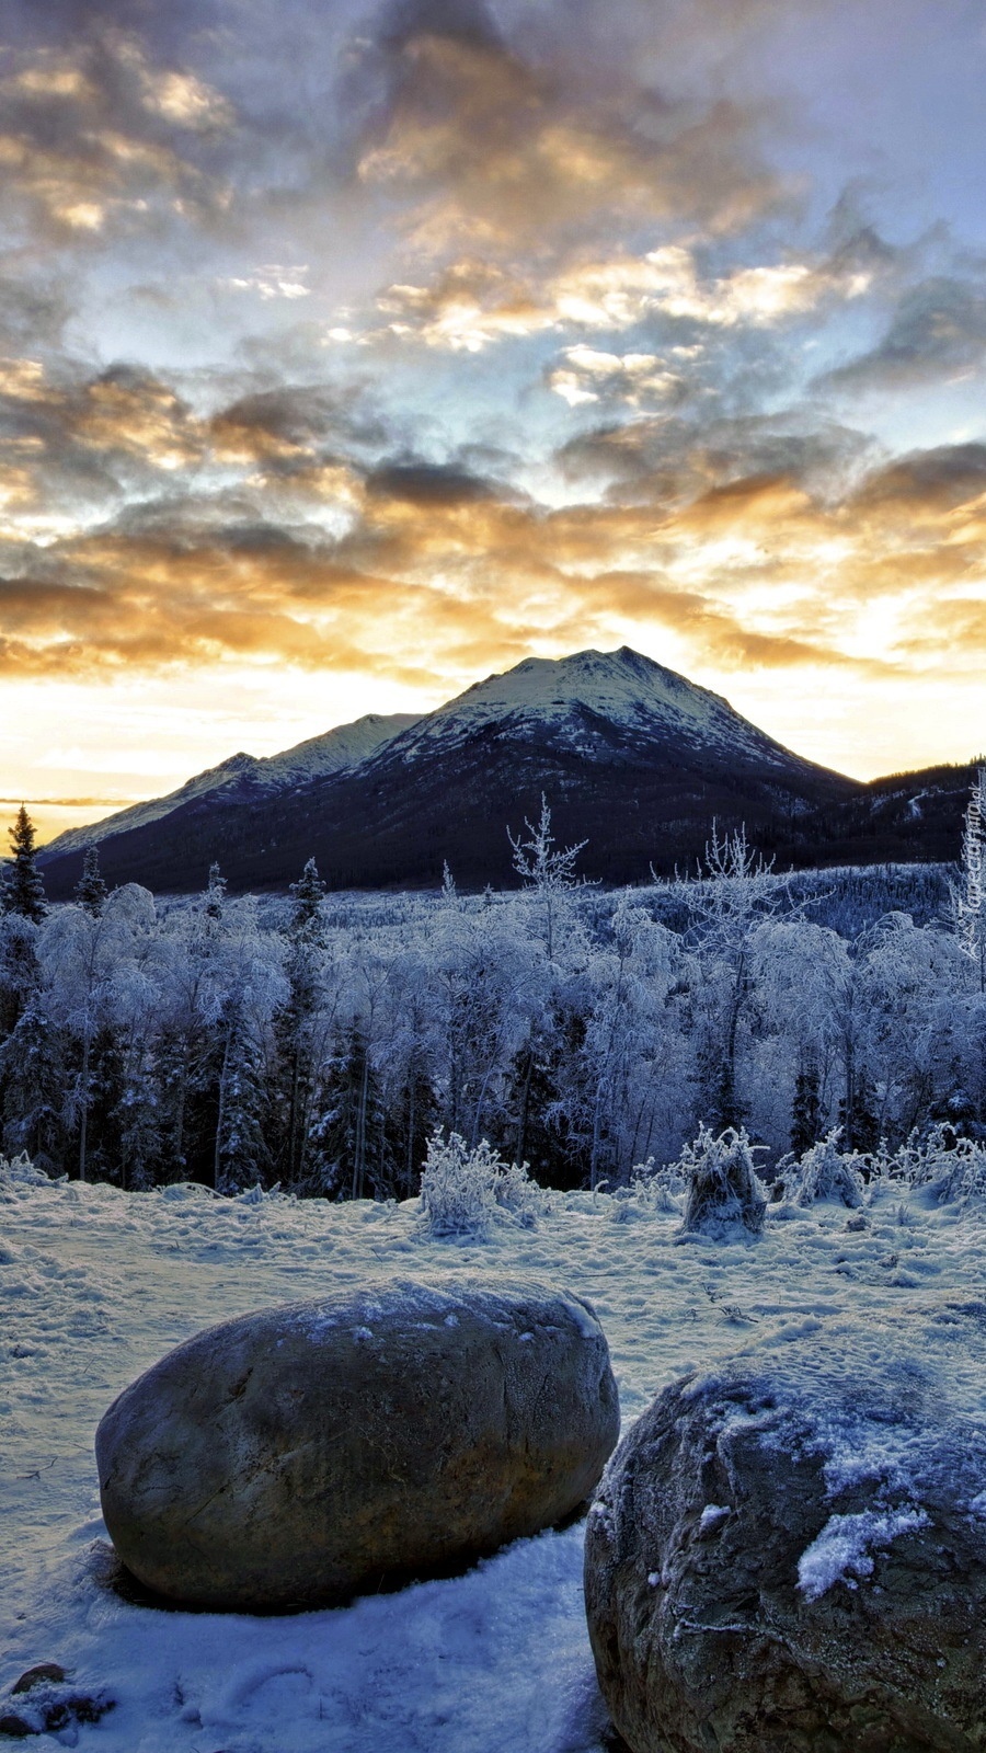
<path id="1" fill-rule="evenodd" d="M 586 1613 L 633 1753 L 986 1746 L 986 1306 L 809 1327 L 605 1471 Z"/>

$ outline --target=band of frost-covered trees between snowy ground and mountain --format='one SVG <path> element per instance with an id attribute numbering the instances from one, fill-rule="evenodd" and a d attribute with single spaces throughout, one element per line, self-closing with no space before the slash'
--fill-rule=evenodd
<path id="1" fill-rule="evenodd" d="M 777 875 L 712 827 L 689 878 L 579 878 L 551 810 L 518 887 L 112 892 L 95 848 L 49 906 L 30 817 L 0 913 L 2 1150 L 140 1190 L 418 1192 L 428 1139 L 481 1139 L 549 1187 L 621 1187 L 700 1127 L 770 1176 L 839 1127 L 895 1150 L 986 1136 L 986 771 L 961 861 Z"/>

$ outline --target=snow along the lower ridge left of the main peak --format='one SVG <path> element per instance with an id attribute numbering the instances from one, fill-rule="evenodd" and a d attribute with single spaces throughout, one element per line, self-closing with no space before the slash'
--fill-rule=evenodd
<path id="1" fill-rule="evenodd" d="M 379 713 L 368 712 L 354 724 L 339 724 L 321 736 L 309 736 L 293 749 L 284 749 L 279 756 L 228 756 L 218 766 L 207 768 L 188 778 L 177 791 L 165 798 L 149 798 L 135 803 L 128 810 L 107 815 L 102 822 L 84 827 L 70 827 L 44 847 L 44 857 L 61 857 L 61 854 L 81 852 L 84 847 L 126 834 L 149 822 L 160 822 L 182 805 L 209 794 L 233 798 L 235 794 L 258 796 L 263 792 L 289 791 L 312 778 L 326 778 L 332 773 L 346 773 L 377 754 L 386 743 L 407 731 L 418 719 L 412 712 Z"/>

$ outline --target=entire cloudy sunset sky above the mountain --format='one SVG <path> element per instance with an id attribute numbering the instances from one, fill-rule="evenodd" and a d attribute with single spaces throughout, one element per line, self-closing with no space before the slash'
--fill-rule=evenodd
<path id="1" fill-rule="evenodd" d="M 986 749 L 981 0 L 4 0 L 0 808 L 632 645 Z"/>

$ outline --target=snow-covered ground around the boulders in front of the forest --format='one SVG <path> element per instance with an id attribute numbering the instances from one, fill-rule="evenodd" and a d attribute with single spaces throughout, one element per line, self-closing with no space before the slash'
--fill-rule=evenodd
<path id="1" fill-rule="evenodd" d="M 196 1329 L 372 1274 L 511 1271 L 597 1306 L 625 1422 L 693 1366 L 779 1329 L 893 1322 L 979 1295 L 984 1232 L 882 1190 L 770 1208 L 761 1241 L 681 1243 L 675 1213 L 554 1196 L 535 1229 L 426 1241 L 416 1208 L 212 1201 L 202 1190 L 5 1189 L 0 1197 L 0 1688 L 60 1662 L 116 1707 L 32 1746 L 105 1753 L 597 1753 L 605 1713 L 582 1618 L 582 1529 L 465 1576 L 297 1618 L 160 1613 L 100 1578 L 93 1432 Z M 2 1706 L 0 1706 L 2 1711 Z"/>

